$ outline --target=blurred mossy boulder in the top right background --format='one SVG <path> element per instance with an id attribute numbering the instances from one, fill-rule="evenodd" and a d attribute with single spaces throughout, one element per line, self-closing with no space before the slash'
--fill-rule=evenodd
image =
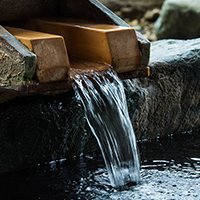
<path id="1" fill-rule="evenodd" d="M 166 0 L 155 23 L 158 39 L 189 39 L 200 36 L 199 0 Z"/>

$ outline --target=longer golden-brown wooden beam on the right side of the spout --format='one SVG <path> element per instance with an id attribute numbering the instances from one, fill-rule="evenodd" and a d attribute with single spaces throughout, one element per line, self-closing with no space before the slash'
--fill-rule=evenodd
<path id="1" fill-rule="evenodd" d="M 118 73 L 141 69 L 141 52 L 133 28 L 67 18 L 35 19 L 27 27 L 62 35 L 70 56 L 107 63 Z"/>

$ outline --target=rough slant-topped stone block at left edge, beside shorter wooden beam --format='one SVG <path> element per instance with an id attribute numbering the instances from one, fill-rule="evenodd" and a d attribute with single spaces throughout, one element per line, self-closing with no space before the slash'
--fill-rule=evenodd
<path id="1" fill-rule="evenodd" d="M 35 54 L 0 26 L 0 87 L 22 85 L 35 69 Z"/>

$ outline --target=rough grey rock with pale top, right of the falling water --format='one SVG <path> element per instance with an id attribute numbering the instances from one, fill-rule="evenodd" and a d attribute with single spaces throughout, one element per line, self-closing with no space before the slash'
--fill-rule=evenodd
<path id="1" fill-rule="evenodd" d="M 138 139 L 200 127 L 200 39 L 152 43 L 150 77 L 124 81 Z"/>

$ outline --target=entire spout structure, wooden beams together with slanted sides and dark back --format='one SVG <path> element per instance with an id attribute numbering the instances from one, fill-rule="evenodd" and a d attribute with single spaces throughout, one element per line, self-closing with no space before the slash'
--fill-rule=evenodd
<path id="1" fill-rule="evenodd" d="M 149 75 L 148 40 L 98 1 L 19 0 L 16 10 L 11 3 L 0 2 L 7 6 L 0 14 L 1 92 L 67 89 L 76 73 L 90 70 L 113 68 L 121 79 Z"/>

